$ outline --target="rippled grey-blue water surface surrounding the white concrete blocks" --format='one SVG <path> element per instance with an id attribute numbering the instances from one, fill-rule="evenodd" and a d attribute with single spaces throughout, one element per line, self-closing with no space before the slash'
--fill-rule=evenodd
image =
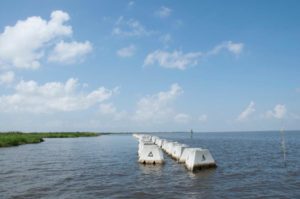
<path id="1" fill-rule="evenodd" d="M 0 198 L 300 198 L 300 132 L 155 134 L 208 148 L 218 168 L 188 172 L 164 154 L 137 163 L 131 135 L 46 139 L 0 148 Z"/>

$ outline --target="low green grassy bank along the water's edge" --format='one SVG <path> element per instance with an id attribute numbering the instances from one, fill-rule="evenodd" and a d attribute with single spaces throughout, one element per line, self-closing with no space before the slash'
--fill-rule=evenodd
<path id="1" fill-rule="evenodd" d="M 44 141 L 43 138 L 75 138 L 75 137 L 93 137 L 98 135 L 100 134 L 91 133 L 91 132 L 63 132 L 63 133 L 8 132 L 8 133 L 0 133 L 0 147 L 40 143 Z"/>

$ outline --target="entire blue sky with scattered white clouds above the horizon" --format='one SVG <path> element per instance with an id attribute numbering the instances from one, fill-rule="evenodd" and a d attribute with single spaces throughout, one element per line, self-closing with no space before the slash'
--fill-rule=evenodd
<path id="1" fill-rule="evenodd" d="M 300 2 L 0 2 L 0 131 L 300 129 Z"/>

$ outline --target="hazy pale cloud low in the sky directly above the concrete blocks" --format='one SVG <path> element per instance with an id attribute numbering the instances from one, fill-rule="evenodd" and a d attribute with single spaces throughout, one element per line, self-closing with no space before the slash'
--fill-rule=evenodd
<path id="1" fill-rule="evenodd" d="M 183 90 L 178 84 L 172 84 L 168 91 L 143 97 L 137 104 L 133 119 L 160 123 L 173 117 L 174 111 L 170 106 L 171 102 L 182 92 Z"/>

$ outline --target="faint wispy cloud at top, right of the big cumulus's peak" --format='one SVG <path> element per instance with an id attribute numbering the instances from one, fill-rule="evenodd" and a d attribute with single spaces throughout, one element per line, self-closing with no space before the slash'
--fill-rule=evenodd
<path id="1" fill-rule="evenodd" d="M 119 17 L 113 28 L 112 34 L 119 36 L 144 36 L 151 35 L 153 32 L 146 30 L 146 28 L 135 19 L 124 19 Z"/>

